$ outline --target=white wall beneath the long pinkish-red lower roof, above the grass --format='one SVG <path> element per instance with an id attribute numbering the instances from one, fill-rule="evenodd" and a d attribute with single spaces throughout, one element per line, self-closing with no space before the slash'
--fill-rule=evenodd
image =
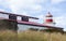
<path id="1" fill-rule="evenodd" d="M 18 24 L 18 31 L 29 30 L 30 28 L 40 29 L 40 30 L 41 29 L 47 29 L 46 27 Z"/>

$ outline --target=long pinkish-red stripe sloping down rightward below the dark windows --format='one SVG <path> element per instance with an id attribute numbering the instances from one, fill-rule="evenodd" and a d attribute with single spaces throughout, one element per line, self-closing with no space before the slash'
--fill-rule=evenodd
<path id="1" fill-rule="evenodd" d="M 38 24 L 38 23 L 33 23 L 33 22 L 22 22 L 22 20 L 15 20 L 15 19 L 9 19 L 9 18 L 3 18 L 3 17 L 0 17 L 0 19 L 8 19 L 8 20 L 13 20 L 13 22 L 18 22 L 19 24 L 31 24 L 31 25 L 37 25 L 37 26 L 44 26 L 44 27 L 50 27 L 50 28 L 59 28 L 59 27 L 53 27 L 53 26 L 47 26 L 47 25 L 44 25 L 44 24 Z"/>

